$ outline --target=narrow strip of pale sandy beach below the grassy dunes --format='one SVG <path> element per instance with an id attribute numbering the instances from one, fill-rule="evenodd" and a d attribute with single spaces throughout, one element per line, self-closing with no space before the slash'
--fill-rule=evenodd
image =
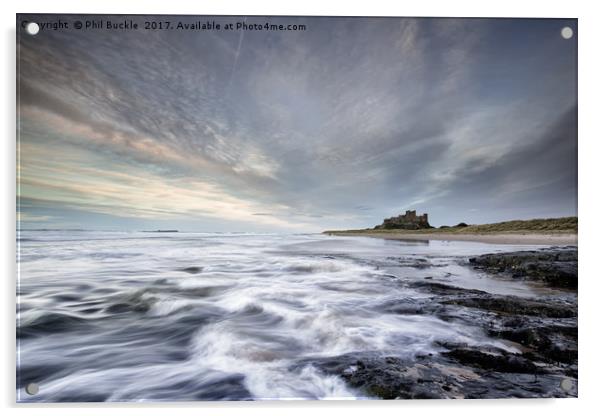
<path id="1" fill-rule="evenodd" d="M 577 234 L 545 234 L 545 233 L 406 233 L 406 232 L 353 232 L 353 231 L 327 231 L 327 235 L 338 237 L 370 237 L 385 240 L 413 240 L 413 241 L 472 241 L 488 244 L 526 244 L 526 245 L 577 245 Z"/>

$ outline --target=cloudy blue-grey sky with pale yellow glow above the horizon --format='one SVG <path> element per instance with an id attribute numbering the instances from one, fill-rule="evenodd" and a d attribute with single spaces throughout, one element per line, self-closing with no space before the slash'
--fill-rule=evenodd
<path id="1" fill-rule="evenodd" d="M 577 215 L 576 20 L 136 16 L 306 29 L 120 31 L 72 28 L 94 16 L 18 19 L 71 24 L 19 30 L 22 229 Z"/>

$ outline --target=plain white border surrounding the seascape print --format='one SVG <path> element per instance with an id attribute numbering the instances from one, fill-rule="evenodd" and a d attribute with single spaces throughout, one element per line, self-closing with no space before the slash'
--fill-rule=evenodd
<path id="1" fill-rule="evenodd" d="M 600 27 L 602 15 L 594 1 L 528 2 L 526 0 L 487 1 L 325 1 L 298 2 L 239 0 L 199 1 L 124 0 L 74 1 L 29 0 L 17 4 L 2 2 L 0 19 L 2 31 L 2 225 L 0 250 L 4 273 L 2 310 L 2 378 L 1 404 L 8 414 L 80 415 L 111 412 L 115 415 L 162 415 L 166 411 L 178 414 L 305 415 L 330 414 L 341 411 L 346 415 L 413 413 L 420 415 L 482 416 L 536 412 L 546 415 L 594 413 L 602 393 L 600 377 L 600 330 L 602 312 L 602 271 L 600 262 L 600 169 L 602 156 L 598 129 L 600 119 Z M 109 405 L 15 405 L 15 13 L 145 13 L 145 14 L 254 14 L 254 15 L 345 15 L 345 16 L 471 16 L 471 17 L 571 17 L 579 18 L 579 399 L 556 400 L 464 400 L 464 401 L 405 401 L 405 402 L 257 402 L 182 404 L 109 404 Z M 596 238 L 598 237 L 598 238 Z M 82 408 L 84 407 L 84 408 Z M 5 413 L 6 414 L 6 413 Z"/>

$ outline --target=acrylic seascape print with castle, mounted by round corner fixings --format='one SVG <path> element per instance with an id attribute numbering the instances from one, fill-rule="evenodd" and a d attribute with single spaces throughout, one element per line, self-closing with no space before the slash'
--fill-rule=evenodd
<path id="1" fill-rule="evenodd" d="M 17 15 L 17 401 L 576 397 L 577 34 Z"/>

